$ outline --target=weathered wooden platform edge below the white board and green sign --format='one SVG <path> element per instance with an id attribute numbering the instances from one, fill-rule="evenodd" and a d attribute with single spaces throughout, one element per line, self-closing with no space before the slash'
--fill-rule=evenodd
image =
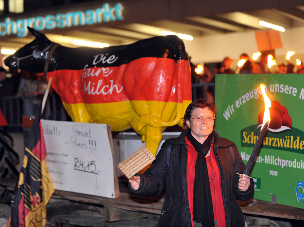
<path id="1" fill-rule="evenodd" d="M 0 179 L 0 187 L 13 191 L 16 182 L 8 179 Z M 55 190 L 52 198 L 69 199 L 71 201 L 90 203 L 92 205 L 104 205 L 129 211 L 141 211 L 159 215 L 164 202 L 164 192 L 158 196 L 142 197 L 129 191 L 127 182 L 119 182 L 120 196 L 116 199 L 105 198 L 81 193 Z M 285 219 L 304 220 L 304 209 L 271 204 L 270 202 L 256 199 L 257 203 L 241 207 L 244 214 L 260 215 Z"/>

